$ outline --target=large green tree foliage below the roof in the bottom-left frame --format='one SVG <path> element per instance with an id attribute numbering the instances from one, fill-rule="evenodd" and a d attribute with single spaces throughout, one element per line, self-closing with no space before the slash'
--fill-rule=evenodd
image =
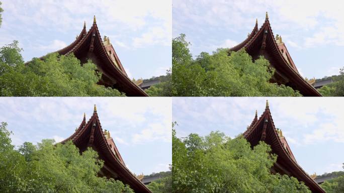
<path id="1" fill-rule="evenodd" d="M 15 150 L 10 134 L 2 123 L 1 192 L 133 192 L 121 181 L 97 176 L 103 161 L 91 148 L 80 154 L 71 141 L 62 145 L 46 139 L 37 145 L 25 142 Z"/>

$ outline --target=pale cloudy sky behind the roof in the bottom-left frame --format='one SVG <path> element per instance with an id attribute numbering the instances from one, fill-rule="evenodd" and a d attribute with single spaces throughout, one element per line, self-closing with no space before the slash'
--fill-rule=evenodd
<path id="1" fill-rule="evenodd" d="M 0 98 L 0 122 L 12 144 L 59 142 L 72 135 L 94 105 L 126 166 L 135 174 L 168 171 L 171 164 L 171 98 Z"/>

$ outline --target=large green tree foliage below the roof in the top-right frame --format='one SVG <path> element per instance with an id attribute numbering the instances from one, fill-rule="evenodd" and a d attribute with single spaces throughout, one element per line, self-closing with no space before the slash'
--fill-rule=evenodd
<path id="1" fill-rule="evenodd" d="M 176 96 L 300 96 L 289 86 L 270 83 L 268 60 L 252 60 L 244 50 L 202 52 L 194 60 L 181 34 L 172 41 L 172 92 Z"/>

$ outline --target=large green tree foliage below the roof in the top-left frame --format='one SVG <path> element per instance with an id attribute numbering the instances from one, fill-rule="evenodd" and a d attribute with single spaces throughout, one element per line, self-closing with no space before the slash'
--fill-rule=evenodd
<path id="1" fill-rule="evenodd" d="M 18 41 L 0 48 L 1 96 L 121 96 L 117 89 L 98 85 L 101 73 L 89 60 L 48 54 L 24 64 Z"/>

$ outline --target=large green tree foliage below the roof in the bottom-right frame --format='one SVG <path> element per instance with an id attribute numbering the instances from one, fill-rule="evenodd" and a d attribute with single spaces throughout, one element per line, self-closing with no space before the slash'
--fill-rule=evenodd
<path id="1" fill-rule="evenodd" d="M 251 149 L 224 133 L 177 138 L 173 130 L 173 192 L 310 192 L 303 182 L 271 174 L 276 155 L 261 142 Z"/>

